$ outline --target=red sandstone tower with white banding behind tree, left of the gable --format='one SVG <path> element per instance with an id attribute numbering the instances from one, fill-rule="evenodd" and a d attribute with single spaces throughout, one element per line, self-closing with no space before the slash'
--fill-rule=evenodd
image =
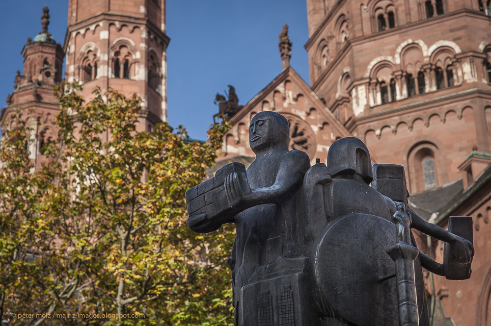
<path id="1" fill-rule="evenodd" d="M 65 36 L 67 81 L 92 90 L 136 93 L 138 131 L 167 121 L 165 0 L 70 0 Z"/>

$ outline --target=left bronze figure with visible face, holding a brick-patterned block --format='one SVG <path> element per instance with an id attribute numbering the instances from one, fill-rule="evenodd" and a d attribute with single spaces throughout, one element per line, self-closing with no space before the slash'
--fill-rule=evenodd
<path id="1" fill-rule="evenodd" d="M 289 280 L 282 279 L 279 281 L 282 285 L 278 283 L 276 288 L 268 287 L 271 282 L 262 282 L 268 275 L 275 275 L 275 264 L 281 263 L 284 270 L 283 261 L 289 264 L 288 259 L 298 257 L 300 253 L 302 230 L 297 214 L 301 210 L 297 209 L 297 203 L 310 160 L 302 151 L 288 150 L 289 135 L 288 121 L 282 115 L 270 111 L 256 114 L 249 126 L 249 144 L 256 159 L 246 175 L 230 173 L 222 184 L 215 180 L 215 191 L 226 195 L 221 196 L 226 208 L 218 208 L 221 209 L 218 214 L 190 213 L 187 222 L 196 232 L 217 230 L 224 223 L 236 226 L 237 235 L 228 263 L 232 269 L 235 323 L 238 326 L 256 325 L 258 315 L 274 323 L 281 314 L 277 317 L 278 314 L 271 312 L 270 316 L 261 309 L 268 305 L 273 309 L 277 301 L 271 298 L 280 295 L 282 290 L 286 295 L 295 295 Z M 218 178 L 219 172 L 215 179 Z M 187 193 L 190 204 L 193 198 L 188 197 Z M 220 196 L 216 193 L 215 198 Z M 257 300 L 244 299 L 245 287 L 251 284 L 256 284 L 250 291 L 255 293 L 252 296 Z M 293 310 L 290 315 L 294 315 Z"/>

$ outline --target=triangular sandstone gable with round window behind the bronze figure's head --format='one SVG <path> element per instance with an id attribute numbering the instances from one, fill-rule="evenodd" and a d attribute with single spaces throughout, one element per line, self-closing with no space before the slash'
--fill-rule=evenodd
<path id="1" fill-rule="evenodd" d="M 225 135 L 223 156 L 254 155 L 248 128 L 252 117 L 261 111 L 275 111 L 287 118 L 290 148 L 307 152 L 312 161 L 324 161 L 336 139 L 352 136 L 300 75 L 288 67 L 231 119 L 233 128 Z"/>

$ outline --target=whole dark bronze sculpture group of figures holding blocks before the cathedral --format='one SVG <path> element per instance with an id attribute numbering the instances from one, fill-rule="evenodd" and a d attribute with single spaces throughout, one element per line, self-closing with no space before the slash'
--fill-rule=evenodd
<path id="1" fill-rule="evenodd" d="M 470 277 L 471 218 L 451 217 L 450 232 L 420 219 L 403 168 L 372 167 L 357 138 L 310 167 L 288 150 L 288 129 L 281 115 L 258 113 L 250 167 L 226 165 L 186 193 L 192 230 L 236 225 L 227 260 L 236 326 L 428 326 L 421 266 Z M 448 243 L 443 264 L 418 250 L 411 228 Z"/>

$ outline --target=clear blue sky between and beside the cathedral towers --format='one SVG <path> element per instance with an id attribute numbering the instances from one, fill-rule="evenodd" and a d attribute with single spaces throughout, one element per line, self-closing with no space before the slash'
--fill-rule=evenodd
<path id="1" fill-rule="evenodd" d="M 44 5 L 49 31 L 63 44 L 68 0 L 3 0 L 0 12 L 0 107 L 13 91 L 27 37 L 42 29 Z M 293 42 L 291 66 L 308 82 L 305 0 L 167 0 L 168 120 L 184 125 L 192 138 L 206 139 L 218 106 L 215 95 L 235 87 L 240 104 L 252 99 L 281 72 L 278 35 L 288 24 Z"/>

